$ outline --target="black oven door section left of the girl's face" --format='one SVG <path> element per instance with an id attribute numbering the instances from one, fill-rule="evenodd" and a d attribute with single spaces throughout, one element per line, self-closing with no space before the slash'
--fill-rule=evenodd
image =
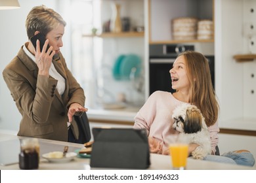
<path id="1" fill-rule="evenodd" d="M 173 67 L 175 58 L 150 58 L 150 95 L 158 90 L 166 92 L 175 92 L 171 88 L 170 69 Z"/>

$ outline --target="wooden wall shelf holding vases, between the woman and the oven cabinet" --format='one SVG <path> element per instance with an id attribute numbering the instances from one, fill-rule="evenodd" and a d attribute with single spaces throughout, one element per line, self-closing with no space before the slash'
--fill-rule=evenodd
<path id="1" fill-rule="evenodd" d="M 144 37 L 144 32 L 121 32 L 121 33 L 101 33 L 95 35 L 83 35 L 83 37 Z"/>

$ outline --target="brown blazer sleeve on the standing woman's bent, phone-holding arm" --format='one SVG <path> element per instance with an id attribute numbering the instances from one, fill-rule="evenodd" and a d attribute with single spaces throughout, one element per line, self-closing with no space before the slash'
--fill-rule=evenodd
<path id="1" fill-rule="evenodd" d="M 36 123 L 47 122 L 57 80 L 37 76 L 36 86 L 33 86 L 32 82 L 28 82 L 29 79 L 26 78 L 31 77 L 29 71 L 24 71 L 21 74 L 17 73 L 16 69 L 5 68 L 3 78 L 18 110 L 22 116 L 29 116 Z"/>

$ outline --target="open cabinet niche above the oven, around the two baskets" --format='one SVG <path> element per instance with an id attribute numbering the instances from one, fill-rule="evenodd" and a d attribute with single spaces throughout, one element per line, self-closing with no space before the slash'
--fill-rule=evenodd
<path id="1" fill-rule="evenodd" d="M 212 39 L 174 40 L 171 27 L 173 18 L 193 17 L 213 20 L 214 31 L 214 0 L 148 0 L 148 12 L 150 44 L 214 42 L 214 35 Z"/>

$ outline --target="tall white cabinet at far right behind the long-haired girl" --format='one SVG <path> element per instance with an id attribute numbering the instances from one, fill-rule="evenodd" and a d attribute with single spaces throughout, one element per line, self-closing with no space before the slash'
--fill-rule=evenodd
<path id="1" fill-rule="evenodd" d="M 256 61 L 238 62 L 249 53 L 247 25 L 256 27 L 256 1 L 215 0 L 215 86 L 222 128 L 256 131 Z M 256 34 L 251 51 L 256 53 Z"/>

